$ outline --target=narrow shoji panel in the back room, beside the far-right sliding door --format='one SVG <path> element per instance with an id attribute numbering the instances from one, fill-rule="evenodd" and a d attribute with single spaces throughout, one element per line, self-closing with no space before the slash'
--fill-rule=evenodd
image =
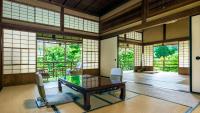
<path id="1" fill-rule="evenodd" d="M 179 67 L 189 67 L 189 41 L 179 42 Z"/>

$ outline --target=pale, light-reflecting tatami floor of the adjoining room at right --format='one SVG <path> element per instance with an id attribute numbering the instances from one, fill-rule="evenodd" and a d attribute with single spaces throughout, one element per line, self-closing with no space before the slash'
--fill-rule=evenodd
<path id="1" fill-rule="evenodd" d="M 158 88 L 189 92 L 189 76 L 179 75 L 175 72 L 133 73 L 125 71 L 124 81 L 148 84 Z"/>

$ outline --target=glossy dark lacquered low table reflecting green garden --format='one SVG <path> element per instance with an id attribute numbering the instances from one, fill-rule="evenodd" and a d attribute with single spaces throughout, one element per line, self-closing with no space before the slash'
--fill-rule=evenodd
<path id="1" fill-rule="evenodd" d="M 85 110 L 90 110 L 90 95 L 120 89 L 120 99 L 125 99 L 125 83 L 119 80 L 111 80 L 108 77 L 93 75 L 70 75 L 58 79 L 59 91 L 62 84 L 83 94 Z"/>

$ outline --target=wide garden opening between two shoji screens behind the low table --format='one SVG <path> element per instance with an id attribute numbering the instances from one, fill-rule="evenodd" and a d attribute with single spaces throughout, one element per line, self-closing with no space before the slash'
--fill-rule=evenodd
<path id="1" fill-rule="evenodd" d="M 47 40 L 45 37 L 37 40 L 37 70 L 48 73 L 43 77 L 47 82 L 56 81 L 77 68 L 82 68 L 81 42 Z"/>

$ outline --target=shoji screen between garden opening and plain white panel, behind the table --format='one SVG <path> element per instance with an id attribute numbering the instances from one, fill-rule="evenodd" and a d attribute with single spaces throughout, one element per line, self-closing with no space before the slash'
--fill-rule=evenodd
<path id="1" fill-rule="evenodd" d="M 99 67 L 99 41 L 83 39 L 83 69 Z"/>

